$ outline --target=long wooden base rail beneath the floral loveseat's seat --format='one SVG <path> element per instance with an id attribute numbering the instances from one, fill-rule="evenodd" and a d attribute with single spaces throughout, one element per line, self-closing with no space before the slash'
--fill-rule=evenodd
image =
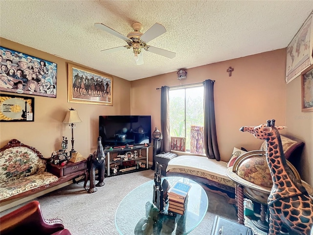
<path id="1" fill-rule="evenodd" d="M 0 203 L 0 212 L 8 210 L 8 209 L 10 209 L 12 207 L 16 207 L 18 205 L 21 205 L 24 202 L 28 202 L 28 201 L 34 200 L 37 197 L 43 196 L 46 193 L 52 192 L 52 191 L 57 190 L 59 188 L 63 188 L 63 187 L 68 186 L 70 184 L 73 184 L 72 180 L 64 182 L 64 183 L 62 183 L 60 185 L 56 185 L 56 186 L 53 186 L 51 188 L 47 188 L 45 190 L 39 191 L 39 192 L 37 192 L 35 194 L 32 194 L 32 195 L 29 195 L 27 197 L 16 198 L 16 199 L 12 199 L 12 200 L 9 200 L 9 201 L 1 202 Z"/>

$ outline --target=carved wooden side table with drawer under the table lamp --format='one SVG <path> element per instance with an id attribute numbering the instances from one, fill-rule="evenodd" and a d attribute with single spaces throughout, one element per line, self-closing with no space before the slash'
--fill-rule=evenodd
<path id="1" fill-rule="evenodd" d="M 76 177 L 85 175 L 87 176 L 87 159 L 72 163 L 68 162 L 66 165 L 55 165 L 47 163 L 47 171 L 58 176 L 60 181 L 74 180 Z"/>

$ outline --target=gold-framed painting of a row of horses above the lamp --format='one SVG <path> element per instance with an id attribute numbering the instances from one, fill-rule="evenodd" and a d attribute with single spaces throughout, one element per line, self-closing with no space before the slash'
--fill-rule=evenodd
<path id="1" fill-rule="evenodd" d="M 68 64 L 68 102 L 113 105 L 113 77 Z"/>

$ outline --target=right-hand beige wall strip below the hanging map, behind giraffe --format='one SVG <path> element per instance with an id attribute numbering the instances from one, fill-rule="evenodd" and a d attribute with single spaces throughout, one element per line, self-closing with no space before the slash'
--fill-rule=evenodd
<path id="1" fill-rule="evenodd" d="M 301 76 L 287 84 L 287 133 L 305 142 L 295 165 L 301 178 L 313 186 L 313 112 L 301 112 Z"/>

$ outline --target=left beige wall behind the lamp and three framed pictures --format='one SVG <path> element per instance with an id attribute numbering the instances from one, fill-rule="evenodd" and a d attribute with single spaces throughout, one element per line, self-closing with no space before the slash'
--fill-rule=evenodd
<path id="1" fill-rule="evenodd" d="M 74 129 L 74 148 L 84 157 L 88 157 L 89 153 L 97 149 L 99 115 L 130 114 L 130 81 L 113 77 L 113 106 L 68 103 L 67 63 L 71 63 L 70 61 L 3 38 L 1 38 L 1 46 L 57 64 L 57 97 L 33 96 L 35 98 L 34 122 L 1 122 L 1 147 L 11 139 L 18 139 L 22 143 L 36 147 L 44 157 L 49 158 L 52 151 L 61 148 L 62 136 L 71 139 L 71 130 L 62 121 L 67 109 L 73 107 L 82 119 L 82 123 L 77 123 Z M 71 144 L 69 143 L 68 146 L 70 149 Z"/>

